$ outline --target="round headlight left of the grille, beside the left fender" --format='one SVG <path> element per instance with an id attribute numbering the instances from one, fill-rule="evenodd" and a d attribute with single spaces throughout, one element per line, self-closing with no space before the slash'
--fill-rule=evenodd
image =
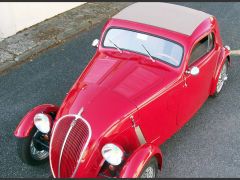
<path id="1" fill-rule="evenodd" d="M 37 129 L 42 133 L 48 133 L 50 131 L 50 119 L 46 114 L 36 114 L 33 121 Z"/>

